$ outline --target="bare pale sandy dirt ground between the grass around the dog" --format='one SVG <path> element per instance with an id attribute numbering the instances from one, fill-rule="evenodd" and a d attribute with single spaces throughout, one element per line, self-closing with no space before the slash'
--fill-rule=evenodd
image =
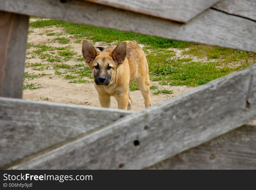
<path id="1" fill-rule="evenodd" d="M 33 20 L 34 21 L 34 20 Z M 58 42 L 54 41 L 56 36 L 47 36 L 47 31 L 53 31 L 53 32 L 63 32 L 63 28 L 56 28 L 56 27 L 48 27 L 48 28 L 33 28 L 33 32 L 31 32 L 28 36 L 28 42 L 32 42 L 33 44 L 45 44 L 48 46 L 53 47 L 64 47 L 67 45 L 70 45 L 72 47 L 72 50 L 77 52 L 77 57 L 82 57 L 81 53 L 81 44 L 74 43 L 76 39 L 70 39 L 69 44 L 59 44 Z M 69 35 L 63 35 L 59 37 L 69 37 Z M 95 46 L 106 46 L 103 42 L 97 42 L 95 43 Z M 140 44 L 141 47 L 143 47 L 142 44 Z M 177 58 L 183 58 L 187 57 L 187 55 L 182 55 L 181 51 L 177 48 L 171 48 L 175 53 L 175 57 Z M 27 49 L 27 57 L 31 57 L 31 54 L 29 52 L 32 52 L 33 50 L 36 50 L 36 48 L 28 48 Z M 191 57 L 195 59 L 195 61 L 198 61 L 196 57 Z M 31 84 L 31 83 L 37 83 L 42 86 L 42 88 L 29 90 L 26 89 L 23 91 L 23 98 L 24 99 L 30 99 L 30 100 L 36 100 L 36 101 L 46 101 L 42 100 L 45 97 L 48 97 L 48 102 L 58 102 L 58 103 L 66 103 L 66 104 L 78 104 L 78 105 L 85 105 L 85 106 L 96 106 L 100 107 L 99 100 L 98 100 L 98 94 L 97 91 L 94 88 L 93 83 L 69 83 L 69 79 L 65 79 L 63 76 L 58 76 L 54 74 L 55 69 L 53 69 L 53 65 L 57 64 L 57 62 L 47 62 L 43 61 L 39 58 L 33 58 L 33 59 L 26 59 L 26 61 L 29 61 L 30 63 L 42 63 L 42 64 L 49 64 L 49 68 L 47 70 L 32 70 L 31 67 L 25 68 L 25 72 L 28 71 L 29 73 L 46 73 L 51 74 L 50 78 L 49 76 L 42 76 L 35 78 L 33 80 L 25 80 L 24 84 Z M 203 59 L 200 61 L 204 61 Z M 81 61 L 74 61 L 69 60 L 63 62 L 63 64 L 68 64 L 71 66 L 74 66 L 75 64 L 82 63 Z M 58 63 L 59 64 L 59 63 Z M 60 71 L 64 71 L 65 69 L 60 69 Z M 91 81 L 92 79 L 84 77 L 83 79 L 87 79 Z M 151 92 L 151 98 L 152 98 L 152 104 L 158 104 L 162 102 L 163 100 L 172 98 L 174 96 L 178 96 L 186 91 L 190 91 L 193 89 L 193 87 L 186 87 L 186 86 L 167 86 L 167 85 L 159 85 L 157 81 L 151 81 L 151 85 L 158 86 L 159 90 L 161 89 L 167 89 L 167 90 L 173 90 L 173 94 L 158 94 L 153 95 Z M 132 110 L 133 111 L 139 111 L 145 108 L 144 106 L 144 99 L 142 97 L 142 94 L 139 90 L 136 91 L 130 91 L 131 98 L 133 99 L 132 104 Z M 117 102 L 116 100 L 111 97 L 111 108 L 117 108 Z M 252 123 L 256 124 L 256 120 L 254 120 Z"/>

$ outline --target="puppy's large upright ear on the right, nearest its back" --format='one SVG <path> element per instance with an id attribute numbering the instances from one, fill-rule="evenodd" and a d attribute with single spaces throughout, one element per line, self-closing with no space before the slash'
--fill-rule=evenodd
<path id="1" fill-rule="evenodd" d="M 120 65 L 124 62 L 126 57 L 127 43 L 126 41 L 121 42 L 111 53 L 111 57 L 115 64 Z"/>

